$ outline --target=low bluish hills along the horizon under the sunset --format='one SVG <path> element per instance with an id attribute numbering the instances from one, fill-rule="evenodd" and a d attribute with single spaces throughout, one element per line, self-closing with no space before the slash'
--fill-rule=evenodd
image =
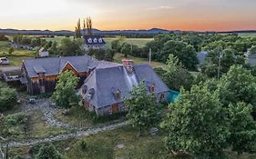
<path id="1" fill-rule="evenodd" d="M 84 31 L 81 30 L 83 34 Z M 227 31 L 227 32 L 195 32 L 195 31 L 170 31 L 160 28 L 151 28 L 151 29 L 142 29 L 142 30 L 98 30 L 93 29 L 94 35 L 156 35 L 156 34 L 168 34 L 168 33 L 225 33 L 225 34 L 241 34 L 241 33 L 256 33 L 256 30 L 241 30 L 241 31 Z M 17 29 L 1 29 L 0 34 L 5 35 L 74 35 L 73 31 L 69 30 L 59 30 L 59 31 L 50 31 L 50 30 L 17 30 Z"/>

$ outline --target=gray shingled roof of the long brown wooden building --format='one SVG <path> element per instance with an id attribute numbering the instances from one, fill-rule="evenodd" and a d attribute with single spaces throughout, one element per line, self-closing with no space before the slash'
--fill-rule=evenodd
<path id="1" fill-rule="evenodd" d="M 38 72 L 45 72 L 45 75 L 58 75 L 65 65 L 72 65 L 77 72 L 87 72 L 89 69 L 100 67 L 109 67 L 116 64 L 109 62 L 100 62 L 88 55 L 66 56 L 66 57 L 48 57 L 48 58 L 29 58 L 24 60 L 24 65 L 29 77 L 38 76 Z"/>

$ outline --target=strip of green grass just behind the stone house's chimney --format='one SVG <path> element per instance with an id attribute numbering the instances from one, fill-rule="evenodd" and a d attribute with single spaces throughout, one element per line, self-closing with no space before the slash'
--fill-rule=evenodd
<path id="1" fill-rule="evenodd" d="M 118 53 L 114 56 L 114 62 L 122 64 L 122 59 L 124 59 L 124 58 L 125 58 L 124 55 Z M 138 58 L 138 57 L 134 57 L 131 55 L 128 55 L 128 58 L 132 59 L 134 64 L 148 64 L 148 59 L 146 59 L 146 58 Z M 151 62 L 151 65 L 153 67 L 159 67 L 159 66 L 163 66 L 165 64 L 153 61 L 153 62 Z"/>

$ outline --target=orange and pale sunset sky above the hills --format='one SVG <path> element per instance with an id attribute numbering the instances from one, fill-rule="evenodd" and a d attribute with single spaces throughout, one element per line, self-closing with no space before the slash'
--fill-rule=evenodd
<path id="1" fill-rule="evenodd" d="M 74 30 L 88 15 L 101 30 L 245 30 L 256 0 L 1 0 L 0 28 Z"/>

